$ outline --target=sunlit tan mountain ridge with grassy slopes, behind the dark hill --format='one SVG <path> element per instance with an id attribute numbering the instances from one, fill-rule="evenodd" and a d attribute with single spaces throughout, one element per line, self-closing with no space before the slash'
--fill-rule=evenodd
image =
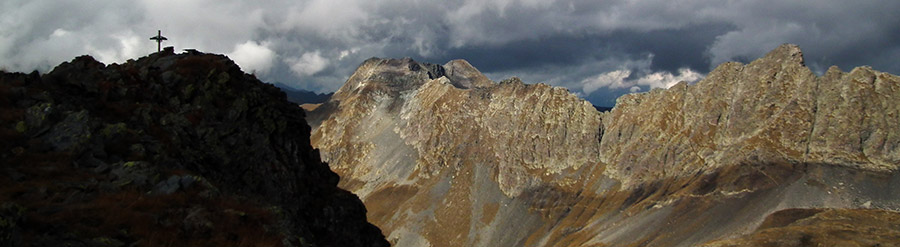
<path id="1" fill-rule="evenodd" d="M 897 76 L 816 76 L 783 45 L 604 113 L 373 58 L 308 119 L 396 246 L 897 246 L 897 102 Z"/>

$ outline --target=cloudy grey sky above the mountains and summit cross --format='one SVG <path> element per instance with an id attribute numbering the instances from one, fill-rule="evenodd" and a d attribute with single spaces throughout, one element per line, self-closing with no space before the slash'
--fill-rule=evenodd
<path id="1" fill-rule="evenodd" d="M 900 1 L 4 0 L 0 69 L 46 72 L 89 54 L 223 53 L 266 82 L 337 90 L 370 57 L 465 59 L 493 80 L 564 86 L 595 105 L 697 81 L 717 64 L 800 45 L 821 73 L 900 74 Z"/>

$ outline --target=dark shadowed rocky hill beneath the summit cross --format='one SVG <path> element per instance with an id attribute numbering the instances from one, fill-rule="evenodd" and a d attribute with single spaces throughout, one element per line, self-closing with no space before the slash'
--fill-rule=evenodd
<path id="1" fill-rule="evenodd" d="M 387 246 L 303 111 L 172 49 L 0 74 L 2 246 Z"/>

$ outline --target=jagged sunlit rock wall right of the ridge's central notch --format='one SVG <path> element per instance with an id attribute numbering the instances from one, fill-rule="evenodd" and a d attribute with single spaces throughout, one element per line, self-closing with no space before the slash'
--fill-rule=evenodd
<path id="1" fill-rule="evenodd" d="M 865 67 L 816 77 L 785 45 L 696 85 L 619 98 L 604 118 L 603 162 L 626 184 L 748 161 L 895 171 L 898 90 L 900 78 Z"/>

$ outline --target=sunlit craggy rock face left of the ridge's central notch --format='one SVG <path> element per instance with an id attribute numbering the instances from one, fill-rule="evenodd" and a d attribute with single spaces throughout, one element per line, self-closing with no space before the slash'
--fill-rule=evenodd
<path id="1" fill-rule="evenodd" d="M 420 68 L 442 67 L 409 59 L 366 61 L 333 98 L 340 114 L 314 134 L 325 160 L 366 181 L 384 178 L 360 167 L 369 164 L 414 165 L 398 171 L 406 174 L 396 178 L 405 180 L 484 165 L 498 169 L 500 189 L 515 196 L 538 179 L 525 173 L 560 174 L 599 158 L 600 114 L 586 101 L 563 88 L 525 85 L 516 78 L 492 84 L 465 61 L 444 67 L 426 71 Z M 375 145 L 389 141 L 402 145 Z"/>

